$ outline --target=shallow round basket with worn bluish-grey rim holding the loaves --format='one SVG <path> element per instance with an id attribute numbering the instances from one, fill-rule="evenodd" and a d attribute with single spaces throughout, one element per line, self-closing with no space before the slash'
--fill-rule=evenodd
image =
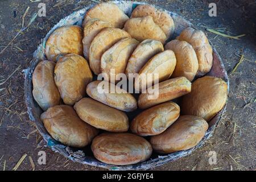
<path id="1" fill-rule="evenodd" d="M 120 9 L 122 9 L 127 15 L 130 16 L 133 9 L 139 5 L 144 4 L 142 2 L 130 2 L 130 1 L 113 1 L 115 4 L 117 4 Z M 56 28 L 67 26 L 67 25 L 79 25 L 81 26 L 82 20 L 84 19 L 84 15 L 86 11 L 88 11 L 93 5 L 89 7 L 85 7 L 82 10 L 76 11 L 72 13 L 69 16 L 66 16 L 64 19 L 61 19 L 59 23 L 57 23 L 51 31 L 48 32 L 46 37 L 42 40 L 42 43 L 39 45 L 38 49 L 34 53 L 34 59 L 31 61 L 30 67 L 28 67 L 25 71 L 25 82 L 24 82 L 24 90 L 25 90 L 25 98 L 26 98 L 26 105 L 27 105 L 27 112 L 29 114 L 29 117 L 32 122 L 36 124 L 36 127 L 39 131 L 39 133 L 42 135 L 43 139 L 46 140 L 47 145 L 55 152 L 59 152 L 60 154 L 64 155 L 65 157 L 82 164 L 88 164 L 90 166 L 97 166 L 102 168 L 108 168 L 111 170 L 136 170 L 136 169 L 149 169 L 152 167 L 160 166 L 164 163 L 171 162 L 173 160 L 182 158 L 183 156 L 191 154 L 193 150 L 196 150 L 196 148 L 199 148 L 203 146 L 205 141 L 210 138 L 213 134 L 213 130 L 217 126 L 218 122 L 220 121 L 222 113 L 225 111 L 225 107 L 209 122 L 209 129 L 207 133 L 205 133 L 204 138 L 200 141 L 197 146 L 185 150 L 185 151 L 179 151 L 174 152 L 172 154 L 167 155 L 159 155 L 153 152 L 151 158 L 143 163 L 133 164 L 133 165 L 127 165 L 127 166 L 114 166 L 112 164 L 105 164 L 100 161 L 98 161 L 96 158 L 94 158 L 92 151 L 90 150 L 90 146 L 87 146 L 85 148 L 73 148 L 64 146 L 63 144 L 57 142 L 55 139 L 51 137 L 51 135 L 48 134 L 46 129 L 43 126 L 42 121 L 40 120 L 40 114 L 43 112 L 42 109 L 39 107 L 39 105 L 36 103 L 32 96 L 32 73 L 34 72 L 34 69 L 36 65 L 41 60 L 46 60 L 46 57 L 44 55 L 44 48 L 46 44 L 46 40 L 48 39 L 49 35 L 52 34 L 53 31 L 56 30 Z M 159 7 L 157 7 L 160 9 Z M 166 10 L 164 10 L 166 11 Z M 175 23 L 175 32 L 173 38 L 176 38 L 177 35 L 180 34 L 182 30 L 186 27 L 193 27 L 193 25 L 188 22 L 187 20 L 183 19 L 181 16 L 172 13 L 171 11 L 166 11 L 168 14 L 172 16 Z M 213 45 L 212 45 L 213 47 Z M 224 65 L 221 61 L 220 56 L 218 55 L 216 49 L 213 47 L 213 67 L 211 71 L 207 74 L 209 76 L 215 76 L 222 78 L 225 80 L 228 84 L 229 89 L 229 80 L 228 75 L 225 71 Z M 129 116 L 129 113 L 127 113 Z"/>

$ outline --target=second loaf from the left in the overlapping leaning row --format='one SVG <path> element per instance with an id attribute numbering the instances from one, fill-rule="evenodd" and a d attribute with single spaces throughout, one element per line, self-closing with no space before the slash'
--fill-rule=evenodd
<path id="1" fill-rule="evenodd" d="M 104 28 L 98 33 L 90 44 L 89 62 L 90 69 L 98 75 L 101 73 L 101 56 L 119 40 L 130 38 L 131 36 L 119 28 Z"/>

